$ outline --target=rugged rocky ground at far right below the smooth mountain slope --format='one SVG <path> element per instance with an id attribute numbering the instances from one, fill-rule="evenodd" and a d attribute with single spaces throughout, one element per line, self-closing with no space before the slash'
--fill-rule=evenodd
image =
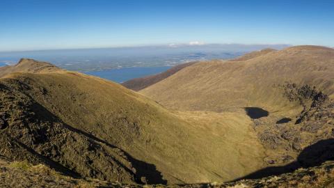
<path id="1" fill-rule="evenodd" d="M 269 150 L 268 164 L 287 164 L 306 146 L 334 138 L 334 102 L 328 95 L 309 85 L 288 83 L 280 88 L 284 97 L 299 102 L 303 109 L 295 121 L 287 123 L 273 123 L 270 118 L 253 120 L 260 141 Z"/>

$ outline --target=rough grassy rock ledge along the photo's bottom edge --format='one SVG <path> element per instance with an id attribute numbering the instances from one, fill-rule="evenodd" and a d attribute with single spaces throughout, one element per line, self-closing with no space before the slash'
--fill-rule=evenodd
<path id="1" fill-rule="evenodd" d="M 106 182 L 96 179 L 72 178 L 58 173 L 49 167 L 27 162 L 9 162 L 0 156 L 0 187 L 333 187 L 334 162 L 326 162 L 308 169 L 298 169 L 292 173 L 255 180 L 239 180 L 228 183 L 198 185 L 127 185 L 119 182 Z"/>

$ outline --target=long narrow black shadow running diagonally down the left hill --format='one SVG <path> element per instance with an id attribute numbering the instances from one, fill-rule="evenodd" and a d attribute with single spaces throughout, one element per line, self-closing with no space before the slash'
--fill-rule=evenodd
<path id="1" fill-rule="evenodd" d="M 106 146 L 109 146 L 111 148 L 118 148 L 116 146 L 113 146 L 111 143 L 108 143 L 108 142 L 106 142 L 102 139 L 97 138 L 96 136 L 94 136 L 92 134 L 88 134 L 87 132 L 84 132 L 82 130 L 78 130 L 77 128 L 74 128 L 70 125 L 67 125 L 60 118 L 58 118 L 53 113 L 51 113 L 51 111 L 45 109 L 45 107 L 43 107 L 38 102 L 33 104 L 31 109 L 33 109 L 33 111 L 35 111 L 36 114 L 42 115 L 43 118 L 47 118 L 48 120 L 58 121 L 58 122 L 62 123 L 64 125 L 64 127 L 66 127 L 68 130 L 70 130 L 72 132 L 77 132 L 78 134 L 82 134 L 82 135 L 84 135 L 84 136 L 86 136 L 90 139 L 93 139 L 94 141 L 104 143 Z M 167 181 L 163 179 L 163 177 L 161 175 L 161 172 L 157 171 L 157 168 L 154 164 L 148 164 L 147 162 L 143 162 L 141 160 L 135 159 L 134 157 L 129 155 L 129 153 L 125 152 L 121 148 L 118 148 L 118 149 L 121 150 L 125 154 L 127 159 L 129 159 L 129 162 L 131 162 L 132 166 L 134 166 L 134 168 L 136 169 L 136 174 L 135 175 L 136 175 L 136 182 L 137 183 L 139 183 L 139 184 L 142 184 L 142 183 L 164 184 L 164 185 L 167 184 Z M 122 164 L 120 164 L 120 163 L 118 163 L 118 164 L 120 166 L 122 166 Z M 126 166 L 122 166 L 122 167 L 127 169 Z"/>

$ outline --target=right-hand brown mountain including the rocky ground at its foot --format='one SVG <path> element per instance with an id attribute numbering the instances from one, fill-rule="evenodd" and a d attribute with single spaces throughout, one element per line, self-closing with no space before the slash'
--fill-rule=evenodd
<path id="1" fill-rule="evenodd" d="M 244 118 L 252 119 L 267 166 L 292 162 L 311 144 L 333 139 L 334 49 L 299 46 L 253 54 L 237 58 L 242 61 L 196 63 L 140 92 L 178 111 L 246 114 L 245 107 L 261 108 Z"/>

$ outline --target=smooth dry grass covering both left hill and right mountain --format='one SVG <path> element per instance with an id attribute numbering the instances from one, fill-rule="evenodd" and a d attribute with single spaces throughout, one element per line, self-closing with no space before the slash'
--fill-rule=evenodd
<path id="1" fill-rule="evenodd" d="M 264 167 L 264 148 L 241 108 L 295 115 L 301 107 L 272 87 L 284 81 L 316 84 L 333 94 L 333 57 L 333 49 L 302 47 L 246 61 L 196 63 L 141 91 L 178 111 L 78 72 L 24 70 L 1 81 L 28 84 L 26 95 L 47 111 L 154 164 L 168 183 L 223 182 Z"/>

